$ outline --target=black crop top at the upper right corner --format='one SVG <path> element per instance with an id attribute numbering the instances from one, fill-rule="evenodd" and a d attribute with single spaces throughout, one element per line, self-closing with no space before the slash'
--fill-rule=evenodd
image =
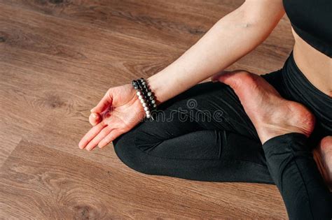
<path id="1" fill-rule="evenodd" d="M 332 57 L 332 0 L 283 0 L 283 3 L 296 34 Z"/>

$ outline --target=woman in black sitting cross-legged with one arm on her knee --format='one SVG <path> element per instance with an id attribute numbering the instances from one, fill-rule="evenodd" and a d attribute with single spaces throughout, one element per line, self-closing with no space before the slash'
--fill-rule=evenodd
<path id="1" fill-rule="evenodd" d="M 127 166 L 152 175 L 276 184 L 291 219 L 331 219 L 331 7 L 245 1 L 146 80 L 158 104 L 154 120 L 139 123 L 146 114 L 132 85 L 113 87 L 91 110 L 93 127 L 79 147 L 113 141 Z M 284 67 L 263 76 L 223 71 L 261 44 L 284 10 L 295 38 Z"/>

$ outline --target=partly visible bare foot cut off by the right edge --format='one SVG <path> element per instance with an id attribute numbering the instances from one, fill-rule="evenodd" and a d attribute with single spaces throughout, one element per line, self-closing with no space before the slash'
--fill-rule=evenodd
<path id="1" fill-rule="evenodd" d="M 319 146 L 314 149 L 313 154 L 319 172 L 324 177 L 330 191 L 332 191 L 332 136 L 326 136 L 321 139 Z"/>

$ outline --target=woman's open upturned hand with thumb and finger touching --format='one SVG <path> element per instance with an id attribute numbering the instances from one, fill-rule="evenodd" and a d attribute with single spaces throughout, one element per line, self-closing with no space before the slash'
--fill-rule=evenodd
<path id="1" fill-rule="evenodd" d="M 97 145 L 106 146 L 145 117 L 136 90 L 130 84 L 109 89 L 91 113 L 89 121 L 93 127 L 78 144 L 80 149 L 88 151 Z"/>

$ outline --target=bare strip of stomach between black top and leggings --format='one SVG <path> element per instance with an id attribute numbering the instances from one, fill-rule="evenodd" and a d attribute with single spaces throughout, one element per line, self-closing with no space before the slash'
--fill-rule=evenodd
<path id="1" fill-rule="evenodd" d="M 314 87 L 332 97 L 332 59 L 303 41 L 295 31 L 293 36 L 296 65 Z"/>

